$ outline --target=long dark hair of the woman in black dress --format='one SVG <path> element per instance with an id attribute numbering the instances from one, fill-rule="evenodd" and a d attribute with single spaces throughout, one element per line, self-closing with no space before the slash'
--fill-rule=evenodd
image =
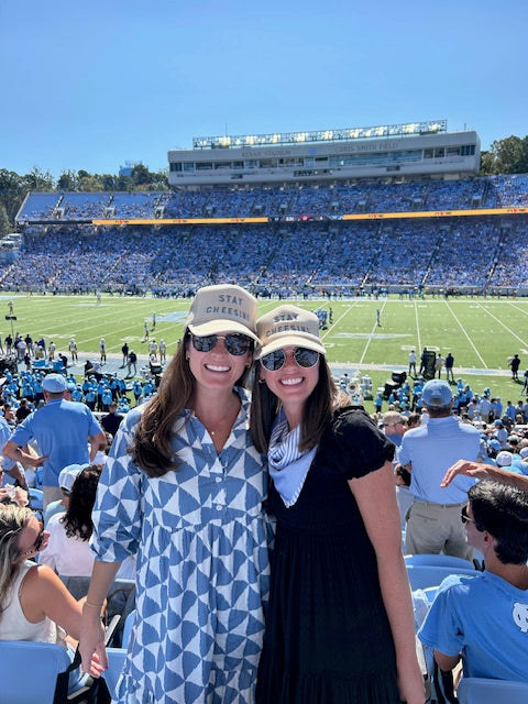
<path id="1" fill-rule="evenodd" d="M 260 378 L 261 363 L 255 362 L 253 380 L 250 435 L 256 450 L 267 452 L 270 437 L 275 418 L 280 410 L 280 400 Z M 341 405 L 336 384 L 326 358 L 319 355 L 319 378 L 316 387 L 306 399 L 300 425 L 299 450 L 310 450 L 319 444 L 324 428 L 332 417 L 334 408 Z"/>

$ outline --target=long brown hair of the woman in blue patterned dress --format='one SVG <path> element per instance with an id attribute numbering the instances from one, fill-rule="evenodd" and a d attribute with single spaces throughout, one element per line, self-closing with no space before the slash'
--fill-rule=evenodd
<path id="1" fill-rule="evenodd" d="M 130 449 L 134 463 L 148 476 L 163 476 L 179 465 L 170 440 L 184 408 L 194 408 L 196 382 L 187 361 L 189 343 L 190 333 L 186 329 L 162 376 L 157 394 L 145 404 L 134 444 Z M 250 370 L 246 369 L 237 386 L 245 386 L 249 374 Z"/>

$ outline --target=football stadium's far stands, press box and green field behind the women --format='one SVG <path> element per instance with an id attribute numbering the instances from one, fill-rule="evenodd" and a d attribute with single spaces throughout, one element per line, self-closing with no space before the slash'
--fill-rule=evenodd
<path id="1" fill-rule="evenodd" d="M 128 341 L 146 363 L 145 318 L 157 312 L 174 352 L 197 288 L 237 283 L 263 311 L 318 310 L 336 376 L 363 383 L 370 409 L 424 346 L 451 352 L 477 393 L 518 400 L 528 176 L 479 176 L 476 132 L 430 120 L 198 136 L 167 156 L 168 191 L 28 193 L 0 243 L 12 333 L 65 352 L 74 337 L 96 359 L 101 337 L 119 359 Z"/>

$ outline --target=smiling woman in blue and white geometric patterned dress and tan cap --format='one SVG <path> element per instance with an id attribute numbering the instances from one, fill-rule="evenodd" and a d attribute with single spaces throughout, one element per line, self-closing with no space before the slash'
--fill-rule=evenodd
<path id="1" fill-rule="evenodd" d="M 120 703 L 254 701 L 272 537 L 242 389 L 255 314 L 238 286 L 197 293 L 158 394 L 127 415 L 105 466 L 80 652 L 99 657 L 92 674 L 103 671 L 99 610 L 120 562 L 136 554 Z"/>

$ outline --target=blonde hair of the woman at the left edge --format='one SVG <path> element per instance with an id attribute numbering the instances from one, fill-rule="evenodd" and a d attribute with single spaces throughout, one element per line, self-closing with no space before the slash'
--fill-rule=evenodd
<path id="1" fill-rule="evenodd" d="M 21 568 L 20 534 L 30 522 L 30 508 L 0 506 L 0 618 L 7 608 L 6 597 Z"/>

